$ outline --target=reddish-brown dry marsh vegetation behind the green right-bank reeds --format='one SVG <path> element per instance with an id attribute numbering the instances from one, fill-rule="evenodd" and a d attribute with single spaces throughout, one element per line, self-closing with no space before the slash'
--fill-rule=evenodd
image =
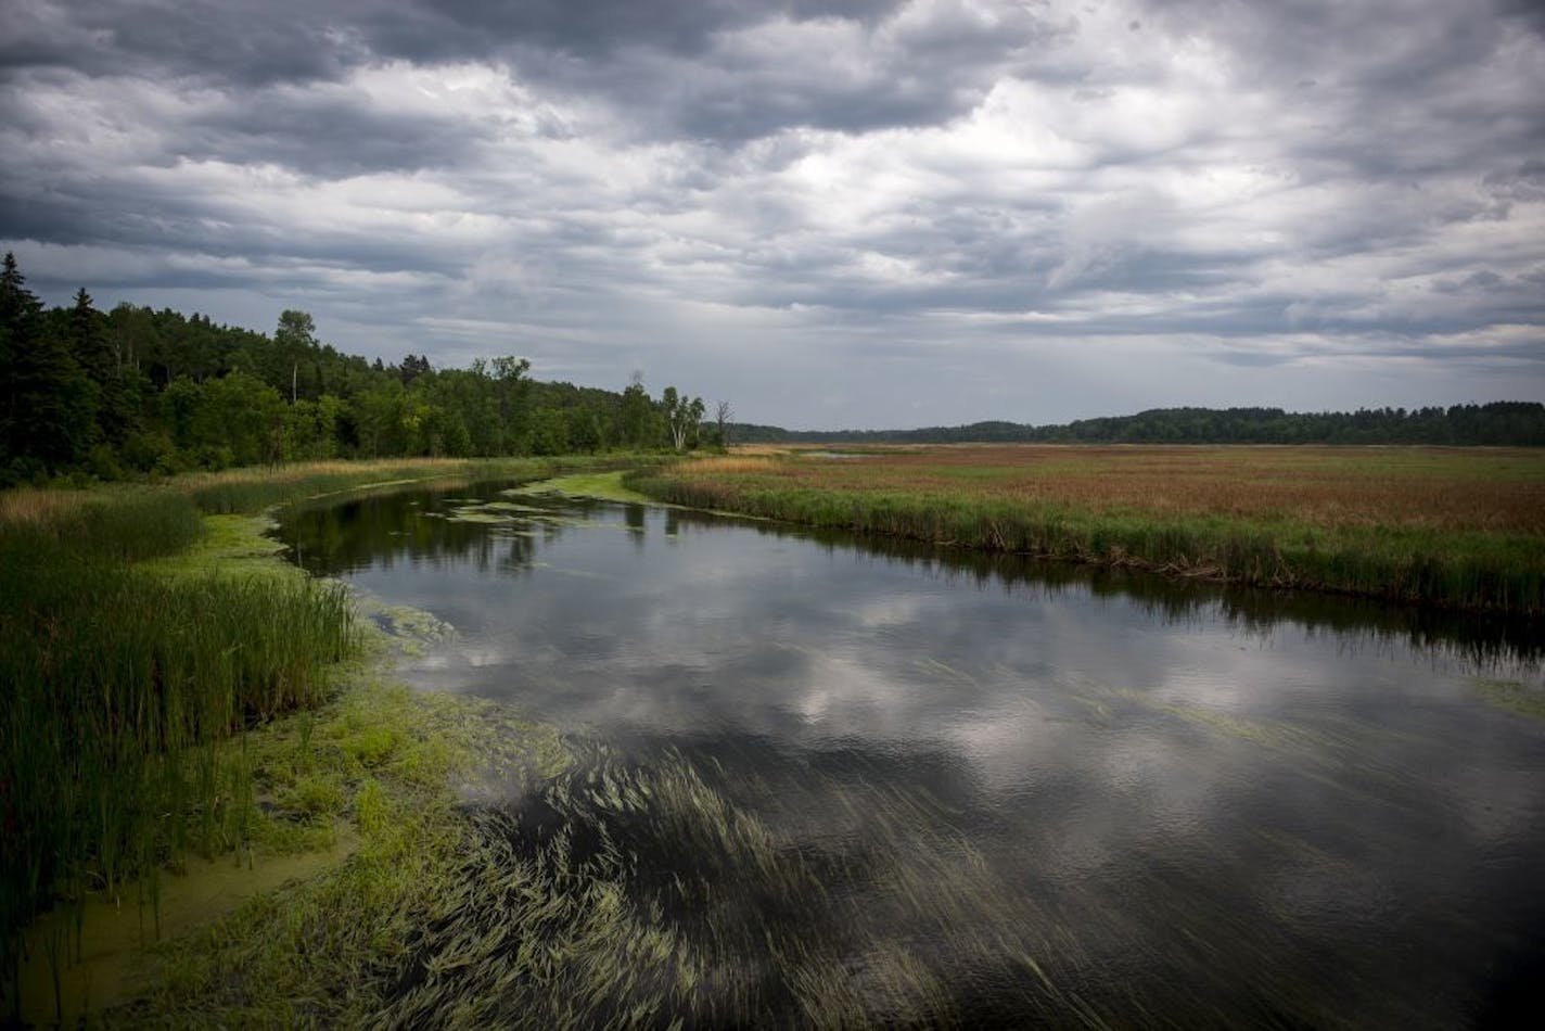
<path id="1" fill-rule="evenodd" d="M 955 445 L 836 459 L 734 453 L 674 475 L 1153 516 L 1545 535 L 1545 454 L 1523 448 Z"/>

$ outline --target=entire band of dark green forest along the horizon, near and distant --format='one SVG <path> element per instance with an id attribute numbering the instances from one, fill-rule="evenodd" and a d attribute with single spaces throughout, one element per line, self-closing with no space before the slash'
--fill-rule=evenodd
<path id="1" fill-rule="evenodd" d="M 1157 408 L 1066 425 L 805 430 L 705 419 L 700 397 L 641 376 L 621 391 L 542 382 L 513 356 L 434 368 L 343 354 L 312 317 L 273 334 L 121 303 L 82 288 L 45 308 L 15 257 L 0 272 L 0 487 L 53 476 L 124 479 L 331 458 L 491 458 L 828 444 L 1426 444 L 1545 445 L 1545 405 L 1289 413 Z"/>

